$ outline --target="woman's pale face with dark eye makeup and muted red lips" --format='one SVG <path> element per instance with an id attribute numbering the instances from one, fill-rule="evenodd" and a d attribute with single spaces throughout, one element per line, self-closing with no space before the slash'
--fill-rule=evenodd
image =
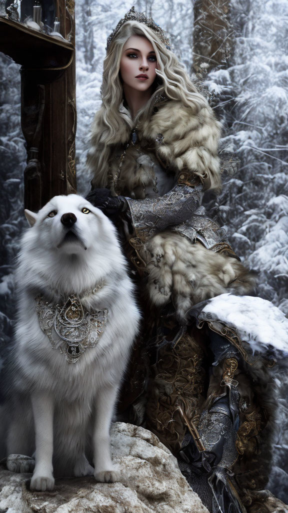
<path id="1" fill-rule="evenodd" d="M 123 83 L 137 91 L 147 91 L 156 78 L 156 68 L 156 55 L 147 37 L 129 37 L 123 47 L 120 61 Z"/>

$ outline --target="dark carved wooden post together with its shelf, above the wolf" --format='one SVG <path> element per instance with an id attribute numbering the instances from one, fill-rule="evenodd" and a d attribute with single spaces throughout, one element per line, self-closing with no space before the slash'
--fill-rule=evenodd
<path id="1" fill-rule="evenodd" d="M 27 144 L 25 208 L 76 192 L 74 0 L 55 0 L 65 40 L 0 17 L 0 50 L 22 65 L 21 126 Z"/>

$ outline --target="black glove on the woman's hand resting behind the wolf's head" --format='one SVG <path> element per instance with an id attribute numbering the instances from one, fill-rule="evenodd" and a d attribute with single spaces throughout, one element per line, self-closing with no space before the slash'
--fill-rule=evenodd
<path id="1" fill-rule="evenodd" d="M 104 212 L 107 217 L 113 217 L 114 215 L 125 212 L 128 208 L 128 203 L 124 196 L 112 196 L 110 189 L 93 189 L 86 196 L 94 207 L 99 208 Z"/>

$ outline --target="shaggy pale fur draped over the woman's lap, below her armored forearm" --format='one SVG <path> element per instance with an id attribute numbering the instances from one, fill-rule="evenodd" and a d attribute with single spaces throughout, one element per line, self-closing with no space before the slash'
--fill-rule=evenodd
<path id="1" fill-rule="evenodd" d="M 163 231 L 145 249 L 152 303 L 161 306 L 172 298 L 181 319 L 196 303 L 230 291 L 249 293 L 255 286 L 253 275 L 236 259 L 200 242 L 192 244 L 178 233 Z"/>

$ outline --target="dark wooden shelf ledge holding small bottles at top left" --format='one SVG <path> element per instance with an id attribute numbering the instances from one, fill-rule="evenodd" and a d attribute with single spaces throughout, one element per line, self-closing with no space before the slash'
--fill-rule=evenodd
<path id="1" fill-rule="evenodd" d="M 28 69 L 61 69 L 69 66 L 74 46 L 0 16 L 0 51 Z"/>

